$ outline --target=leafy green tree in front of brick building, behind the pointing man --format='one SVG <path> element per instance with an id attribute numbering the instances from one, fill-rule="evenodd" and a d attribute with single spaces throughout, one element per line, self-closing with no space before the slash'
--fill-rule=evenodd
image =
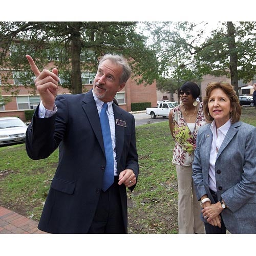
<path id="1" fill-rule="evenodd" d="M 81 71 L 95 72 L 105 53 L 124 55 L 138 83 L 151 84 L 159 76 L 155 51 L 136 33 L 136 22 L 0 22 L 0 65 L 23 70 L 23 84 L 33 84 L 25 57 L 30 54 L 39 70 L 57 67 L 62 87 L 82 92 Z M 11 50 L 11 55 L 8 51 Z M 145 59 L 147 61 L 145 61 Z M 11 75 L 11 74 L 10 74 Z"/>

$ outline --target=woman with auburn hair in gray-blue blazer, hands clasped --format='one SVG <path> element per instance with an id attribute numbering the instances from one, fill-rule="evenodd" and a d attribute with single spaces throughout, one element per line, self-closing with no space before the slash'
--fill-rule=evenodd
<path id="1" fill-rule="evenodd" d="M 256 127 L 240 120 L 241 107 L 227 82 L 206 88 L 193 179 L 206 233 L 256 233 Z"/>

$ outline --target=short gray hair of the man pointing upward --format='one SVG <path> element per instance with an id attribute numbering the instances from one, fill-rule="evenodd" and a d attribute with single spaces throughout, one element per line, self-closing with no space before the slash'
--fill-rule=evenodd
<path id="1" fill-rule="evenodd" d="M 118 66 L 121 66 L 123 68 L 123 73 L 120 77 L 120 84 L 126 83 L 126 81 L 130 78 L 132 75 L 131 67 L 128 65 L 126 59 L 123 56 L 120 55 L 113 55 L 113 54 L 105 54 L 102 59 L 99 61 L 99 65 L 105 60 L 109 59 L 113 63 L 115 63 Z"/>

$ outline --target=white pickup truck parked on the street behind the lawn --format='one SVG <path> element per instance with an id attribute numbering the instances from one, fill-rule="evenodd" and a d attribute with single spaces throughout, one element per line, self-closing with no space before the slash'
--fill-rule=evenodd
<path id="1" fill-rule="evenodd" d="M 146 108 L 146 114 L 155 119 L 156 116 L 162 116 L 165 118 L 169 115 L 169 112 L 177 106 L 178 103 L 174 101 L 160 101 L 157 103 L 157 108 Z"/>

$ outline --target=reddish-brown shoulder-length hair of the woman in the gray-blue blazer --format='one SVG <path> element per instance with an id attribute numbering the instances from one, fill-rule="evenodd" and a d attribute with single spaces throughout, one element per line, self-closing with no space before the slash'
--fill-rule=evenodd
<path id="1" fill-rule="evenodd" d="M 230 100 L 230 106 L 233 109 L 230 118 L 231 118 L 231 123 L 238 122 L 240 120 L 241 116 L 241 106 L 239 104 L 239 99 L 236 94 L 236 91 L 234 91 L 233 86 L 231 86 L 230 83 L 228 82 L 210 82 L 208 83 L 205 92 L 206 95 L 204 97 L 204 115 L 205 119 L 207 122 L 212 122 L 214 118 L 212 118 L 209 114 L 209 106 L 208 106 L 208 101 L 211 95 L 212 90 L 214 89 L 221 89 L 229 98 Z"/>

